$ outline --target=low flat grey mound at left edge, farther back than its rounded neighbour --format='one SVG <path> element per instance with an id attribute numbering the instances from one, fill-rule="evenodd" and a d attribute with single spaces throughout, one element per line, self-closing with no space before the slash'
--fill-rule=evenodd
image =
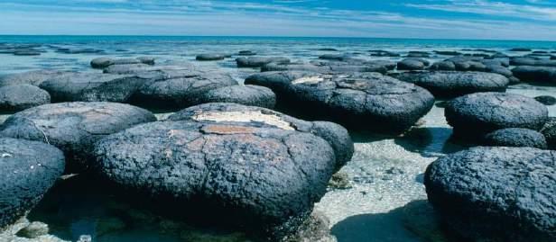
<path id="1" fill-rule="evenodd" d="M 41 85 L 54 76 L 66 75 L 70 72 L 57 70 L 36 70 L 11 74 L 0 78 L 0 86 L 4 85 Z"/>

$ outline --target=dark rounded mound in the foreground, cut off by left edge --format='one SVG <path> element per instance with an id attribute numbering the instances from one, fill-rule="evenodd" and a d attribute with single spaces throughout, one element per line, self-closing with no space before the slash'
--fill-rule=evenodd
<path id="1" fill-rule="evenodd" d="M 64 171 L 60 149 L 41 142 L 0 138 L 0 228 L 30 211 Z"/>

